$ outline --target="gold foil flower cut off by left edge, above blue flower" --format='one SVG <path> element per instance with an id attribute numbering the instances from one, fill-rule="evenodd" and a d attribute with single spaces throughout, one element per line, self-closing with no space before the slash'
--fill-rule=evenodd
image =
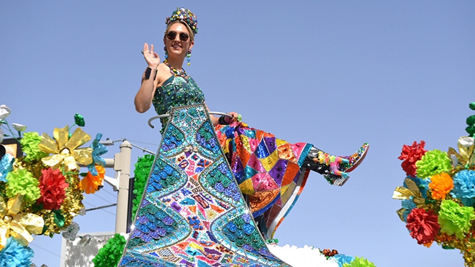
<path id="1" fill-rule="evenodd" d="M 20 194 L 6 203 L 0 197 L 0 248 L 5 247 L 10 236 L 27 246 L 33 241 L 31 234 L 39 235 L 43 231 L 43 218 L 32 213 L 19 213 L 24 207 L 23 196 Z"/>

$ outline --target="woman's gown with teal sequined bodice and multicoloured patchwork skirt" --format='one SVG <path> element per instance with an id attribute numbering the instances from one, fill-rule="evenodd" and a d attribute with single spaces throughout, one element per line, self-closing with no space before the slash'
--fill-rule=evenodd
<path id="1" fill-rule="evenodd" d="M 203 92 L 190 76 L 173 75 L 157 87 L 152 104 L 157 114 L 166 114 L 172 106 L 204 101 Z M 168 118 L 161 119 L 161 134 L 167 122 Z M 272 238 L 304 189 L 309 170 L 303 163 L 312 144 L 288 143 L 243 122 L 217 125 L 215 130 L 262 235 Z M 225 195 L 232 193 L 224 187 L 219 190 Z"/>

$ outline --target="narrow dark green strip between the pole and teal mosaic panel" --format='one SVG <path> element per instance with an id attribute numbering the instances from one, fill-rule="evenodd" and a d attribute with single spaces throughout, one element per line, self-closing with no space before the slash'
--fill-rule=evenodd
<path id="1" fill-rule="evenodd" d="M 145 183 L 147 183 L 154 159 L 154 155 L 146 154 L 139 157 L 137 162 L 134 164 L 135 170 L 133 170 L 133 174 L 135 175 L 135 179 L 133 182 L 133 194 L 135 194 L 135 199 L 132 200 L 132 218 L 135 218 L 135 212 L 137 212 L 140 205 L 140 200 L 142 199 L 142 194 L 145 189 Z"/>

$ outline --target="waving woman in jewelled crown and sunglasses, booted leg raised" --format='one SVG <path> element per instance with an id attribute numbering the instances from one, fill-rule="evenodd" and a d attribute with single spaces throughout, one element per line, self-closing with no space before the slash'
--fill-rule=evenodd
<path id="1" fill-rule="evenodd" d="M 177 9 L 166 20 L 163 37 L 165 61 L 161 62 L 153 45 L 143 46 L 148 64 L 142 85 L 134 100 L 138 112 L 146 112 L 153 104 L 157 114 L 168 113 L 172 106 L 203 104 L 205 96 L 196 82 L 181 67 L 190 59 L 196 17 L 186 9 Z M 275 230 L 294 206 L 310 171 L 315 171 L 333 185 L 343 185 L 348 172 L 356 168 L 366 155 L 369 145 L 350 156 L 333 156 L 310 143 L 287 143 L 274 135 L 250 128 L 232 118 L 211 116 L 219 143 L 232 172 L 265 238 Z M 162 118 L 161 134 L 167 123 Z"/>

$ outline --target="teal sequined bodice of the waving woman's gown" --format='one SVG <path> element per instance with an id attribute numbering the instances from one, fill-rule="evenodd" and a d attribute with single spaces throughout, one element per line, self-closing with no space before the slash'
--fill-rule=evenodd
<path id="1" fill-rule="evenodd" d="M 205 95 L 201 92 L 195 80 L 188 76 L 170 76 L 161 86 L 155 90 L 153 95 L 153 106 L 157 114 L 168 113 L 172 106 L 194 105 L 205 102 Z M 161 118 L 161 130 L 163 133 L 168 118 Z"/>

